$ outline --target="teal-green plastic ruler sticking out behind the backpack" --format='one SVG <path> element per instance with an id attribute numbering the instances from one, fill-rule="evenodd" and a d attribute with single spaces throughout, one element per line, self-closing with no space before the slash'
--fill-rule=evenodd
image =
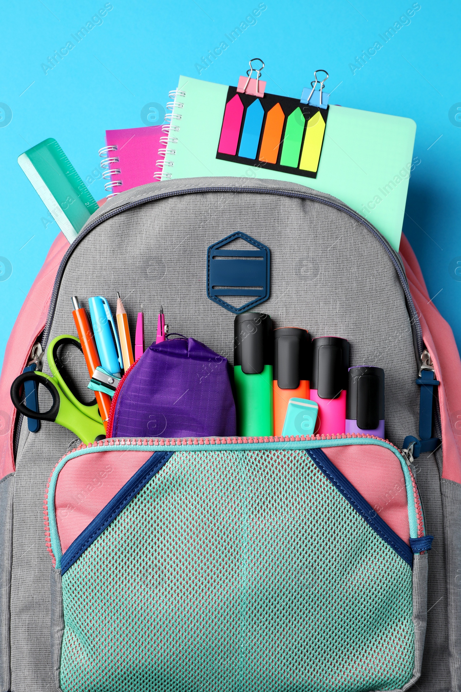
<path id="1" fill-rule="evenodd" d="M 72 243 L 98 206 L 66 154 L 49 138 L 21 154 L 17 162 Z"/>

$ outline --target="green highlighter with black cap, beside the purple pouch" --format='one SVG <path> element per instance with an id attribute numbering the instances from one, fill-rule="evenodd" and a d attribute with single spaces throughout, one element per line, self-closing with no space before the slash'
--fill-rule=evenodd
<path id="1" fill-rule="evenodd" d="M 237 433 L 274 435 L 274 336 L 270 316 L 259 312 L 234 320 L 234 384 Z"/>

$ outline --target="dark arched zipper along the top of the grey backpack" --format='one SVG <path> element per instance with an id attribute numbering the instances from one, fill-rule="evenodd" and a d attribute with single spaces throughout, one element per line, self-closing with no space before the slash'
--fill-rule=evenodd
<path id="1" fill-rule="evenodd" d="M 415 306 L 413 304 L 413 300 L 411 298 L 411 293 L 410 289 L 408 288 L 408 282 L 406 280 L 406 275 L 404 272 L 404 268 L 402 266 L 402 262 L 400 260 L 400 257 L 397 252 L 393 249 L 391 244 L 384 238 L 379 231 L 374 228 L 371 224 L 364 219 L 364 217 L 361 217 L 357 212 L 353 211 L 350 209 L 345 204 L 342 203 L 336 203 L 328 199 L 323 199 L 323 197 L 319 197 L 316 194 L 302 194 L 301 192 L 286 192 L 284 190 L 277 190 L 276 188 L 272 189 L 265 189 L 261 190 L 261 188 L 234 188 L 234 187 L 224 187 L 224 186 L 216 186 L 216 187 L 207 187 L 207 188 L 189 188 L 185 190 L 174 190 L 173 192 L 160 192 L 159 194 L 152 194 L 149 197 L 143 197 L 140 200 L 122 204 L 122 206 L 117 207 L 115 209 L 112 209 L 110 212 L 106 212 L 106 214 L 101 215 L 99 218 L 95 219 L 95 221 L 92 221 L 91 223 L 88 223 L 88 225 L 80 231 L 79 235 L 75 238 L 74 242 L 70 245 L 70 248 L 68 248 L 68 251 L 62 258 L 61 264 L 59 264 L 59 268 L 57 270 L 56 278 L 55 278 L 55 284 L 53 286 L 53 293 L 51 295 L 51 300 L 50 300 L 50 307 L 48 309 L 48 316 L 46 318 L 46 325 L 44 329 L 44 335 L 41 340 L 41 345 L 43 349 L 46 348 L 46 344 L 48 343 L 48 337 L 50 334 L 50 327 L 51 327 L 51 322 L 53 321 L 53 318 L 55 316 L 55 309 L 56 309 L 56 302 L 57 302 L 57 294 L 59 292 L 59 286 L 61 284 L 62 280 L 62 275 L 64 274 L 64 269 L 66 268 L 66 264 L 69 260 L 70 255 L 72 255 L 73 251 L 79 244 L 79 242 L 88 235 L 88 233 L 93 230 L 93 228 L 96 228 L 96 226 L 99 226 L 102 224 L 103 221 L 106 221 L 107 219 L 111 219 L 114 216 L 117 216 L 118 214 L 121 214 L 122 212 L 132 209 L 133 207 L 140 206 L 142 204 L 145 204 L 147 202 L 151 201 L 156 201 L 157 199 L 165 199 L 167 197 L 178 197 L 183 194 L 198 194 L 201 192 L 251 192 L 251 193 L 257 193 L 261 194 L 274 194 L 274 195 L 279 195 L 280 197 L 295 197 L 298 199 L 308 199 L 310 201 L 315 201 L 321 204 L 324 204 L 325 206 L 329 206 L 332 208 L 335 208 L 339 211 L 342 211 L 346 214 L 348 214 L 352 219 L 355 219 L 355 221 L 358 221 L 359 224 L 362 226 L 365 226 L 370 233 L 372 233 L 375 238 L 378 240 L 378 242 L 382 245 L 386 253 L 391 257 L 391 260 L 393 262 L 393 265 L 395 267 L 395 271 L 397 271 L 397 275 L 399 277 L 400 283 L 402 284 L 402 289 L 405 294 L 406 298 L 406 309 L 408 311 L 408 315 L 410 316 L 410 323 L 411 323 L 411 329 L 413 333 L 413 346 L 415 348 L 415 356 L 416 356 L 416 362 L 420 363 L 420 358 L 422 356 L 422 353 L 424 351 L 424 342 L 422 339 L 422 329 L 420 325 L 420 319 L 417 316 L 417 311 L 415 309 Z"/>

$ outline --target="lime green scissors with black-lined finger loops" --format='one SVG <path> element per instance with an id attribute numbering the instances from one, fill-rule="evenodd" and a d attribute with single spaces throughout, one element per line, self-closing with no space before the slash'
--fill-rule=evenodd
<path id="1" fill-rule="evenodd" d="M 79 339 L 70 334 L 57 336 L 48 346 L 46 358 L 53 376 L 44 372 L 24 372 L 11 385 L 11 401 L 17 410 L 28 418 L 55 423 L 75 432 L 84 444 L 89 444 L 106 437 L 97 403 L 85 404 L 77 399 L 72 385 L 64 380 L 64 363 L 58 355 L 58 349 L 64 345 L 72 345 L 82 351 Z M 53 398 L 51 408 L 44 413 L 32 411 L 22 403 L 22 386 L 24 382 L 34 381 L 41 384 L 50 392 Z"/>

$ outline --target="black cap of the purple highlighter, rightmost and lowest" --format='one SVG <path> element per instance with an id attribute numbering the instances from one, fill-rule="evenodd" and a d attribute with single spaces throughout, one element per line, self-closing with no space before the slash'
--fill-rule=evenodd
<path id="1" fill-rule="evenodd" d="M 348 372 L 346 418 L 361 430 L 375 430 L 384 421 L 384 370 L 359 365 Z"/>

